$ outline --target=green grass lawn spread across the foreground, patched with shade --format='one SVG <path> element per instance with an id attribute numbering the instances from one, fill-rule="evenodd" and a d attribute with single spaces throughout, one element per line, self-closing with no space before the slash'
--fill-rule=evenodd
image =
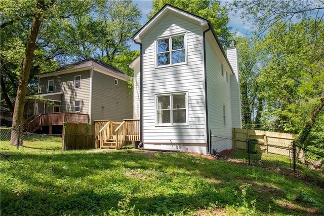
<path id="1" fill-rule="evenodd" d="M 15 164 L 1 157 L 1 215 L 324 214 L 323 188 L 258 166 L 135 149 L 2 153 Z"/>

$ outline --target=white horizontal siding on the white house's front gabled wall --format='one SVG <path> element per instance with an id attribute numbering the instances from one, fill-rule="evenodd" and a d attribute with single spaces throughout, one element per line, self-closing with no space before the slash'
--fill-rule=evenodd
<path id="1" fill-rule="evenodd" d="M 187 34 L 187 63 L 155 68 L 155 41 L 183 32 Z M 143 142 L 168 143 L 168 145 L 206 143 L 203 28 L 170 14 L 145 35 L 142 46 Z M 164 127 L 155 125 L 155 95 L 168 92 L 187 92 L 187 125 Z"/>

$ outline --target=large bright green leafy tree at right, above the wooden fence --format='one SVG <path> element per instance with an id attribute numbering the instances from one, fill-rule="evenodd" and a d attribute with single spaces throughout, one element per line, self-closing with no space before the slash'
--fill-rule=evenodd
<path id="1" fill-rule="evenodd" d="M 300 133 L 297 140 L 303 144 L 324 105 L 324 49 L 319 46 L 324 24 L 315 22 L 304 19 L 285 28 L 279 22 L 270 28 L 264 43 L 269 64 L 260 80 L 268 120 L 276 130 Z"/>

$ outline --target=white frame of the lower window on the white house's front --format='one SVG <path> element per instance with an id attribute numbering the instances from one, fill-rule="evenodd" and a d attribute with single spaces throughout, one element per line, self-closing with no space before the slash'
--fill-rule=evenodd
<path id="1" fill-rule="evenodd" d="M 173 95 L 185 95 L 186 103 L 186 122 L 175 123 L 173 122 Z M 158 97 L 160 96 L 169 96 L 170 98 L 170 123 L 158 123 Z M 155 126 L 189 126 L 189 108 L 188 108 L 188 92 L 170 92 L 164 94 L 155 94 Z"/>

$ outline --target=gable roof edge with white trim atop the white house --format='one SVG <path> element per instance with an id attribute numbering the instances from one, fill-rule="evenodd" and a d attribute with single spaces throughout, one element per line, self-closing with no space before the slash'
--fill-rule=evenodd
<path id="1" fill-rule="evenodd" d="M 231 66 L 231 64 L 229 63 L 227 56 L 225 54 L 225 51 L 221 45 L 221 43 L 218 40 L 218 37 L 216 35 L 216 32 L 213 28 L 213 26 L 211 25 L 210 21 L 199 17 L 197 15 L 191 14 L 187 11 L 184 11 L 180 8 L 171 6 L 169 4 L 166 4 L 163 8 L 161 8 L 149 21 L 147 21 L 145 23 L 145 25 L 143 25 L 133 36 L 133 40 L 135 41 L 135 43 L 141 43 L 141 40 L 143 37 L 145 37 L 145 35 L 153 28 L 155 27 L 155 25 L 162 19 L 164 19 L 166 16 L 168 16 L 169 14 L 174 14 L 176 16 L 179 17 L 183 17 L 184 19 L 187 19 L 197 25 L 200 25 L 201 27 L 203 27 L 204 31 L 210 32 L 212 34 L 212 37 L 216 40 L 217 45 L 220 49 L 220 51 L 222 52 L 229 68 L 232 71 L 232 74 L 234 74 L 233 68 Z M 134 60 L 135 61 L 135 60 Z"/>

